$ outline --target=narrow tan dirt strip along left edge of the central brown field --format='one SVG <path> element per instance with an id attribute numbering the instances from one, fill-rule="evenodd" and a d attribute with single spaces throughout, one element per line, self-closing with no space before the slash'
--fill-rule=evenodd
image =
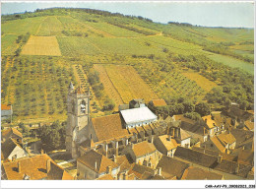
<path id="1" fill-rule="evenodd" d="M 103 84 L 106 94 L 114 100 L 114 110 L 117 111 L 119 104 L 123 104 L 124 101 L 122 100 L 120 94 L 117 92 L 111 80 L 109 79 L 104 67 L 96 64 L 95 69 L 99 73 L 99 80 Z"/>

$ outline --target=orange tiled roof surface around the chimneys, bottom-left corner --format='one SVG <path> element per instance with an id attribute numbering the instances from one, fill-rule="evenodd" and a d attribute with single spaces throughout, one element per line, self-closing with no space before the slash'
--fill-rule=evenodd
<path id="1" fill-rule="evenodd" d="M 32 158 L 20 158 L 15 161 L 3 163 L 4 171 L 8 180 L 23 180 L 25 174 L 30 177 L 31 180 L 39 180 L 47 178 L 46 161 L 50 159 L 52 165 L 52 171 L 55 172 L 54 177 L 59 179 L 73 179 L 65 170 L 58 166 L 51 158 L 46 154 L 37 155 Z M 18 162 L 21 165 L 21 172 L 18 172 Z"/>

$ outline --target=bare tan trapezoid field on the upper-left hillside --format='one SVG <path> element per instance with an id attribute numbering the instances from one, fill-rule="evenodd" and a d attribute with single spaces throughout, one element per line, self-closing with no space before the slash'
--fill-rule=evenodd
<path id="1" fill-rule="evenodd" d="M 55 36 L 31 36 L 22 50 L 23 55 L 61 56 Z"/>

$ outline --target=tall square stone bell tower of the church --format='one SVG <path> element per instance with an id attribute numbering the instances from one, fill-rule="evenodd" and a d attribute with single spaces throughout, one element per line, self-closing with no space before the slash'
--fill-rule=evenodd
<path id="1" fill-rule="evenodd" d="M 80 86 L 75 89 L 70 83 L 67 106 L 66 151 L 72 158 L 78 158 L 79 144 L 89 138 L 87 131 L 90 120 L 90 91 Z"/>

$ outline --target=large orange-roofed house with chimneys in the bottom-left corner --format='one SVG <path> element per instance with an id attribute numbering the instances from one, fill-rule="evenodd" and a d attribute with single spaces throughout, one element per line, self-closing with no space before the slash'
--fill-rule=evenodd
<path id="1" fill-rule="evenodd" d="M 73 180 L 66 170 L 46 154 L 4 162 L 2 178 L 7 180 Z"/>

